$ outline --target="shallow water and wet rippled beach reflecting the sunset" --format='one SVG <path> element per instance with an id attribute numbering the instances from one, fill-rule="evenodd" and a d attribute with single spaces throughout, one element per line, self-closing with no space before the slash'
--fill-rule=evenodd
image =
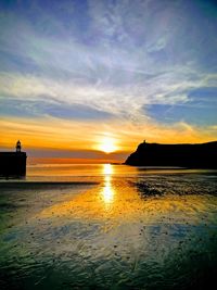
<path id="1" fill-rule="evenodd" d="M 214 289 L 217 172 L 46 164 L 26 181 L 0 182 L 0 289 Z"/>

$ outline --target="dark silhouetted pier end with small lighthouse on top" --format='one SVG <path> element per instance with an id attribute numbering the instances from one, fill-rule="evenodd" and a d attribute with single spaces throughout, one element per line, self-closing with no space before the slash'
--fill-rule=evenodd
<path id="1" fill-rule="evenodd" d="M 0 152 L 0 176 L 20 177 L 26 175 L 26 152 L 21 151 L 21 141 L 16 142 L 15 152 Z"/>

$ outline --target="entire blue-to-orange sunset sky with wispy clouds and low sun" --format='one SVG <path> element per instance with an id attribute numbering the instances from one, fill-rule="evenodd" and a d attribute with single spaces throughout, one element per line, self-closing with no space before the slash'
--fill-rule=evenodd
<path id="1" fill-rule="evenodd" d="M 217 140 L 216 112 L 216 1 L 0 1 L 0 149 L 122 160 Z"/>

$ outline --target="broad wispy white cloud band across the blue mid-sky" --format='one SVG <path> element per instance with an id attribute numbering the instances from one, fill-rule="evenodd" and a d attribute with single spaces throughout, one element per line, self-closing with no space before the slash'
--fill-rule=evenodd
<path id="1" fill-rule="evenodd" d="M 148 78 L 144 75 L 144 78 L 135 84 L 105 86 L 104 83 L 79 84 L 71 79 L 55 80 L 41 76 L 2 73 L 0 100 L 2 105 L 9 98 L 11 106 L 13 102 L 15 106 L 18 102 L 26 104 L 27 109 L 33 108 L 33 113 L 37 111 L 37 115 L 52 114 L 53 111 L 59 117 L 74 115 L 77 118 L 89 116 L 102 119 L 104 114 L 105 118 L 112 116 L 117 119 L 145 122 L 150 117 L 148 112 L 150 105 L 178 105 L 176 110 L 179 110 L 181 104 L 190 106 L 193 94 L 195 97 L 200 91 L 202 93 L 205 89 L 209 89 L 209 81 L 203 75 L 191 72 L 191 77 L 189 76 L 189 71 L 183 68 Z M 207 99 L 200 101 L 205 103 Z M 23 113 L 25 114 L 25 111 Z M 157 111 L 155 113 L 157 114 Z"/>

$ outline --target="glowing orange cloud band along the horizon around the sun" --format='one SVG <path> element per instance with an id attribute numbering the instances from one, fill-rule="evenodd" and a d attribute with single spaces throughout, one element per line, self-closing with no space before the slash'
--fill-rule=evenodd
<path id="1" fill-rule="evenodd" d="M 205 142 L 217 139 L 215 127 L 193 127 L 187 123 L 173 126 L 131 124 L 127 122 L 78 122 L 59 118 L 2 118 L 0 121 L 3 148 L 13 148 L 21 139 L 25 150 L 95 151 L 107 136 L 115 140 L 116 150 L 131 152 L 146 139 L 149 142 Z"/>

